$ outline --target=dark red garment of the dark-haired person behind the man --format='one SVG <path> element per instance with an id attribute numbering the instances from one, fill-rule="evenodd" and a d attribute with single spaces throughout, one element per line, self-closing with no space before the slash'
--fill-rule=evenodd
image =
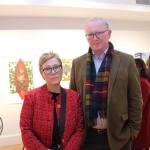
<path id="1" fill-rule="evenodd" d="M 150 147 L 150 85 L 147 79 L 140 78 L 143 113 L 140 132 L 132 143 L 132 149 L 144 149 Z"/>

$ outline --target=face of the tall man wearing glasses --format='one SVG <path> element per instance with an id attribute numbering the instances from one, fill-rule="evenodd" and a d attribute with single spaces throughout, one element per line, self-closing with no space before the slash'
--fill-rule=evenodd
<path id="1" fill-rule="evenodd" d="M 87 39 L 90 48 L 95 53 L 104 52 L 106 50 L 111 36 L 111 30 L 108 30 L 105 24 L 100 20 L 92 20 L 86 24 L 85 35 L 98 32 L 102 32 L 99 38 L 94 35 L 93 39 Z"/>

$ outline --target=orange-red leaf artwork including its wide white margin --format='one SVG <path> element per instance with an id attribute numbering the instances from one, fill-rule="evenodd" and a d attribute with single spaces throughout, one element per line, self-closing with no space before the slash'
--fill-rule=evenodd
<path id="1" fill-rule="evenodd" d="M 3 67 L 3 73 L 0 75 L 1 91 L 4 93 L 6 104 L 23 103 L 26 92 L 34 88 L 33 66 L 35 61 L 33 60 L 36 60 L 33 55 L 22 57 L 5 55 L 1 58 Z"/>

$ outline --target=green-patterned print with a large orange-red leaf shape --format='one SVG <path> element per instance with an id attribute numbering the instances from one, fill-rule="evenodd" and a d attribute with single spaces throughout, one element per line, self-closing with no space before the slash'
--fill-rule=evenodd
<path id="1" fill-rule="evenodd" d="M 32 61 L 9 62 L 10 93 L 18 93 L 23 100 L 27 91 L 33 89 Z"/>

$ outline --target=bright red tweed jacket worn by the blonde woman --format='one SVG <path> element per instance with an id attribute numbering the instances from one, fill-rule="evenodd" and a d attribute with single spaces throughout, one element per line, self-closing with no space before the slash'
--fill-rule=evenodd
<path id="1" fill-rule="evenodd" d="M 84 134 L 80 96 L 66 90 L 66 118 L 62 137 L 63 150 L 79 150 Z M 51 148 L 53 133 L 54 101 L 46 85 L 31 90 L 25 95 L 20 115 L 22 141 L 27 150 Z M 60 120 L 61 93 L 57 97 L 56 111 Z"/>

